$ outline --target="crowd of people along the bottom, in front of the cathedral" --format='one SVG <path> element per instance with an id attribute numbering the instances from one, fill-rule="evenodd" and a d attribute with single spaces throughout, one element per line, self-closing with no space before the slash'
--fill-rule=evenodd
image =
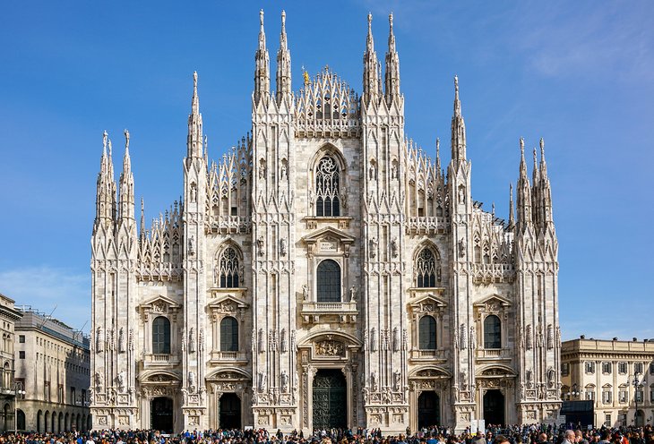
<path id="1" fill-rule="evenodd" d="M 552 425 L 488 426 L 485 431 L 455 433 L 432 427 L 385 436 L 376 429 L 316 430 L 285 434 L 265 429 L 185 431 L 167 434 L 153 430 L 64 433 L 19 432 L 0 435 L 0 444 L 654 444 L 654 429 L 556 427 Z"/>

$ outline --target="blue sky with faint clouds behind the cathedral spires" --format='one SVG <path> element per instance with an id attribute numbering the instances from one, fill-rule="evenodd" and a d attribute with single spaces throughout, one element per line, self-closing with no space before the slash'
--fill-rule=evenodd
<path id="1" fill-rule="evenodd" d="M 250 129 L 259 9 L 271 69 L 287 13 L 294 89 L 325 64 L 361 90 L 366 13 L 394 13 L 406 132 L 449 161 L 452 78 L 472 193 L 506 217 L 521 136 L 546 141 L 564 339 L 654 337 L 654 3 L 8 2 L 0 9 L 0 292 L 90 319 L 90 231 L 106 129 L 131 134 L 146 216 L 181 193 L 192 74 L 211 158 Z M 274 71 L 273 71 L 274 72 Z M 274 82 L 273 82 L 274 83 Z M 274 86 L 273 86 L 274 88 Z M 89 324 L 84 328 L 88 331 Z"/>

